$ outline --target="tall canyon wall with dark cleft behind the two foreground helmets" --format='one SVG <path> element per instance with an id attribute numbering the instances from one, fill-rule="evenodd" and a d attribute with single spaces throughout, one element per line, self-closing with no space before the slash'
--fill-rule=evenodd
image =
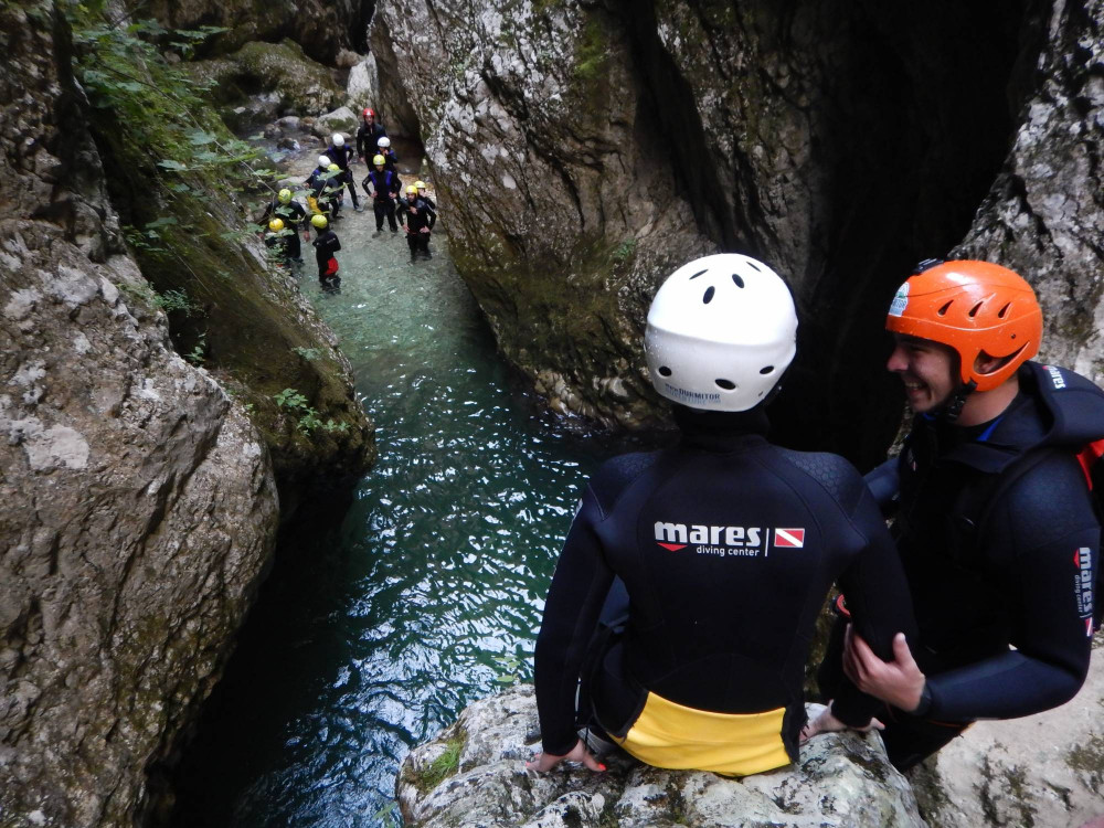
<path id="1" fill-rule="evenodd" d="M 1074 275 L 1095 269 L 1098 26 L 1094 3 L 1041 0 L 394 0 L 371 43 L 418 114 L 457 266 L 554 407 L 660 420 L 650 295 L 679 263 L 741 251 L 798 300 L 776 425 L 870 464 L 900 417 L 888 301 L 964 238 L 956 253 L 1040 288 L 1044 354 L 1101 379 L 1098 290 Z"/>

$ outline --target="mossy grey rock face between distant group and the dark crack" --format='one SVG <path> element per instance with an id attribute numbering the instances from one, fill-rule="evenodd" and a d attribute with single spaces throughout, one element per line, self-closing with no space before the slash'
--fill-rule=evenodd
<path id="1" fill-rule="evenodd" d="M 500 348 L 534 380 L 562 379 L 564 411 L 657 422 L 639 347 L 647 302 L 715 244 L 640 128 L 622 26 L 577 2 L 506 13 L 400 0 L 378 10 L 372 44 L 417 113 L 449 251 Z M 613 403 L 594 380 L 618 362 Z"/>

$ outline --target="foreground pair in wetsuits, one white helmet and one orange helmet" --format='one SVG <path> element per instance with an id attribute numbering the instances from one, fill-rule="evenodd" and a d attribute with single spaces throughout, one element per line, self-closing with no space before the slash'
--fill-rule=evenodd
<path id="1" fill-rule="evenodd" d="M 978 719 L 1076 694 L 1101 615 L 1104 392 L 1031 361 L 1042 311 L 1000 265 L 921 263 L 885 328 L 915 416 L 864 479 L 767 439 L 797 331 L 771 267 L 720 254 L 662 284 L 644 348 L 680 438 L 607 461 L 585 488 L 537 641 L 530 769 L 604 771 L 619 747 L 754 774 L 852 728 L 880 730 L 904 771 Z M 834 584 L 830 701 L 807 721 L 804 668 Z"/>

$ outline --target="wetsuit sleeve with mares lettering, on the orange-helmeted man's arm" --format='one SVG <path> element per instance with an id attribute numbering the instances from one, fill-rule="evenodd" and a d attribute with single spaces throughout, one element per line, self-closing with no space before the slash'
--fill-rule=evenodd
<path id="1" fill-rule="evenodd" d="M 1016 650 L 930 677 L 930 718 L 1029 715 L 1081 689 L 1092 648 L 1100 527 L 1080 475 L 1073 458 L 1040 464 L 986 521 Z"/>

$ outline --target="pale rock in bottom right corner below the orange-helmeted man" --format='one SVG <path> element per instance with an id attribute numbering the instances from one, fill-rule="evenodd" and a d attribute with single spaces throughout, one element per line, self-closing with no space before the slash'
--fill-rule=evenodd
<path id="1" fill-rule="evenodd" d="M 933 828 L 1080 826 L 1104 816 L 1104 637 L 1066 704 L 1026 719 L 978 722 L 910 773 Z"/>

